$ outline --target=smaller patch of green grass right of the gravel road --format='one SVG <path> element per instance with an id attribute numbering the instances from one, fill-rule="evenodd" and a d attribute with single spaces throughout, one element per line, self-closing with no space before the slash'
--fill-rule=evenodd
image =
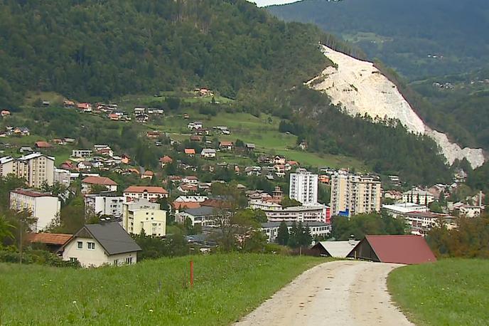
<path id="1" fill-rule="evenodd" d="M 489 325 L 489 260 L 410 265 L 392 271 L 387 283 L 417 325 Z"/>

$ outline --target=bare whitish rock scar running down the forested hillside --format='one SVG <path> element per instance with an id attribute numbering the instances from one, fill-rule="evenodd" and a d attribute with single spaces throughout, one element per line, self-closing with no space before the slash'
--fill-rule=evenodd
<path id="1" fill-rule="evenodd" d="M 360 61 L 326 46 L 322 46 L 321 51 L 337 68 L 326 68 L 321 75 L 309 80 L 307 85 L 328 94 L 333 104 L 343 106 L 350 115 L 394 118 L 411 132 L 429 135 L 439 144 L 449 164 L 464 157 L 474 168 L 484 163 L 482 149 L 462 149 L 458 144 L 451 143 L 445 134 L 426 126 L 396 85 L 382 75 L 373 63 Z"/>

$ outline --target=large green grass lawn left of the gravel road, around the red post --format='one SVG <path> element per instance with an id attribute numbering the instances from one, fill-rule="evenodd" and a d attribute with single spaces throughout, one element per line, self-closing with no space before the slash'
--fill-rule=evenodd
<path id="1" fill-rule="evenodd" d="M 190 256 L 75 270 L 0 264 L 1 325 L 230 325 L 303 270 L 312 257 Z"/>

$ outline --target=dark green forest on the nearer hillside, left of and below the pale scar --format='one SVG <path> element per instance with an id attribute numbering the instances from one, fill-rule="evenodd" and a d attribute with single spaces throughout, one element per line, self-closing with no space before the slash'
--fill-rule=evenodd
<path id="1" fill-rule="evenodd" d="M 432 140 L 392 128 L 394 122 L 374 124 L 348 117 L 326 96 L 301 86 L 331 65 L 318 50 L 319 42 L 362 54 L 315 26 L 284 23 L 245 0 L 0 4 L 0 105 L 20 113 L 14 119 L 36 135 L 72 134 L 86 143 L 108 142 L 137 157 L 138 128 L 115 126 L 117 132 L 98 132 L 97 120 L 85 125 L 75 112 L 39 110 L 31 102 L 36 98 L 26 102 L 26 94 L 49 91 L 77 101 L 119 102 L 128 94 L 151 97 L 206 87 L 235 101 L 195 103 L 194 110 L 213 115 L 244 111 L 256 117 L 267 112 L 283 120 L 281 131 L 310 143 L 311 152 L 355 157 L 375 172 L 399 174 L 412 183 L 451 179 Z M 168 105 L 168 98 L 151 105 L 178 112 Z"/>

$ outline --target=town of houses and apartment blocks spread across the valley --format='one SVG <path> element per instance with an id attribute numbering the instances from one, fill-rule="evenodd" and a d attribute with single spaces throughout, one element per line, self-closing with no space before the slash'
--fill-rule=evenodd
<path id="1" fill-rule="evenodd" d="M 117 115 L 141 123 L 148 122 L 149 115 L 163 114 L 134 107 L 127 115 L 117 111 L 115 104 L 93 108 L 90 103 L 65 101 L 64 106 L 80 112 L 103 112 L 110 120 Z M 257 223 L 235 234 L 241 238 L 238 243 L 245 242 L 243 237 L 252 237 L 252 229 L 269 243 L 287 244 L 284 234 L 289 238 L 300 233 L 303 239 L 292 247 L 322 253 L 331 242 L 326 240 L 334 239 L 335 219 L 382 214 L 402 221 L 407 233 L 426 236 L 441 224 L 456 228 L 458 216 L 474 218 L 485 209 L 482 192 L 466 198 L 453 196 L 465 181 L 462 170 L 453 176 L 452 184 L 409 188 L 395 175 L 381 179 L 350 169 L 306 169 L 283 155 L 259 152 L 252 143 L 209 137 L 232 134 L 222 125 L 207 127 L 201 121 L 191 121 L 186 127 L 189 138 L 185 143 L 159 131 L 146 132 L 156 147 L 168 149 L 152 170 L 137 164 L 138 157 L 116 152 L 109 144 L 80 147 L 78 140 L 63 138 L 37 141 L 31 147 L 9 147 L 9 152 L 17 154 L 0 157 L 0 177 L 24 183 L 11 189 L 9 208 L 30 218 L 23 226 L 31 232 L 29 241 L 42 243 L 63 260 L 85 267 L 136 263 L 142 249 L 135 236 L 164 239 L 175 226 L 185 229 L 186 241 L 196 250 L 216 250 L 218 233 L 243 211 Z M 8 127 L 5 133 L 29 135 L 26 127 Z M 55 147 L 73 149 L 68 159 L 58 162 L 51 154 Z M 306 147 L 305 142 L 299 144 L 301 149 Z M 254 164 L 220 162 L 222 154 L 246 155 Z M 457 197 L 458 201 L 451 200 Z M 56 233 L 63 207 L 70 206 L 74 198 L 81 201 L 84 223 L 72 234 Z M 235 201 L 242 202 L 237 205 Z M 74 243 L 78 250 L 73 250 Z M 81 250 L 84 248 L 87 251 Z M 345 248 L 350 246 L 345 244 L 343 251 Z"/>

